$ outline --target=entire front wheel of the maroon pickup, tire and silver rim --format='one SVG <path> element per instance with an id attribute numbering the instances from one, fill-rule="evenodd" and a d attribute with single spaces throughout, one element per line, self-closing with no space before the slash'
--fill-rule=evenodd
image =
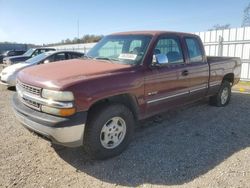
<path id="1" fill-rule="evenodd" d="M 119 155 L 129 144 L 134 130 L 134 116 L 122 104 L 95 108 L 87 122 L 84 147 L 92 158 Z"/>

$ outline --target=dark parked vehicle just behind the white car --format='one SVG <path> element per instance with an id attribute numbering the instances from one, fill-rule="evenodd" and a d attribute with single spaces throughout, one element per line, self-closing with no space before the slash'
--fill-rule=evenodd
<path id="1" fill-rule="evenodd" d="M 24 62 L 41 53 L 48 52 L 48 51 L 55 51 L 55 50 L 56 49 L 54 48 L 31 48 L 27 52 L 25 52 L 23 55 L 4 58 L 3 66 L 7 67 L 16 63 Z"/>

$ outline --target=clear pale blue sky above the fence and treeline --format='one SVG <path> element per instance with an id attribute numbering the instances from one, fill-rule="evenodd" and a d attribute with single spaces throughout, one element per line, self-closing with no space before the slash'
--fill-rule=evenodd
<path id="1" fill-rule="evenodd" d="M 46 44 L 129 30 L 240 27 L 250 0 L 0 0 L 0 42 Z"/>

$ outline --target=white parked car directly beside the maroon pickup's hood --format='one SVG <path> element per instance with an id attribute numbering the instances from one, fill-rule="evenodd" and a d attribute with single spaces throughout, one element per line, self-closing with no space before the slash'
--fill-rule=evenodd
<path id="1" fill-rule="evenodd" d="M 25 62 L 17 63 L 8 66 L 2 70 L 0 73 L 0 83 L 7 86 L 16 85 L 16 77 L 19 71 L 24 68 L 31 67 L 34 65 L 51 63 L 55 61 L 63 61 L 69 59 L 76 59 L 84 56 L 84 53 L 73 52 L 73 51 L 49 51 L 32 57 Z"/>

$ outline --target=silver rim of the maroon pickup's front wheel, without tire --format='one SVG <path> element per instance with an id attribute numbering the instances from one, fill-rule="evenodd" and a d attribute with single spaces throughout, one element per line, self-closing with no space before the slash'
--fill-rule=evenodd
<path id="1" fill-rule="evenodd" d="M 121 144 L 126 135 L 126 123 L 121 117 L 109 119 L 102 127 L 100 141 L 104 148 L 113 149 Z"/>

